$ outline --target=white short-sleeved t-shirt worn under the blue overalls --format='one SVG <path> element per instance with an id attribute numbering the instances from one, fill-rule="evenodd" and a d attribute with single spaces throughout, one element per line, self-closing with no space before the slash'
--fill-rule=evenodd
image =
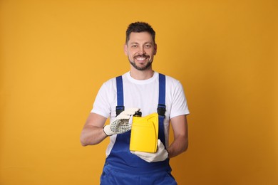
<path id="1" fill-rule="evenodd" d="M 158 108 L 158 91 L 159 78 L 155 72 L 152 78 L 148 80 L 135 80 L 130 76 L 130 72 L 125 73 L 123 77 L 123 99 L 125 110 L 128 108 L 140 108 L 142 117 L 157 112 Z M 165 144 L 169 145 L 169 121 L 171 118 L 179 115 L 188 115 L 190 112 L 187 107 L 187 100 L 182 88 L 182 84 L 166 75 L 166 92 L 165 92 Z M 110 122 L 115 120 L 115 107 L 117 106 L 117 87 L 116 80 L 112 78 L 101 86 L 98 91 L 96 100 L 93 104 L 93 110 L 98 115 L 110 117 Z M 110 137 L 110 144 L 106 150 L 106 155 L 115 143 L 116 134 Z"/>

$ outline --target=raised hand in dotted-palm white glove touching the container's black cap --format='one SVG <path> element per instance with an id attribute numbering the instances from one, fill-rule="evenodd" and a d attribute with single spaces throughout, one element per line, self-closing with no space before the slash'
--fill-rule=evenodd
<path id="1" fill-rule="evenodd" d="M 131 123 L 129 123 L 130 116 L 134 115 L 138 110 L 138 108 L 130 108 L 120 112 L 110 125 L 103 127 L 103 132 L 108 136 L 128 132 L 131 129 Z"/>

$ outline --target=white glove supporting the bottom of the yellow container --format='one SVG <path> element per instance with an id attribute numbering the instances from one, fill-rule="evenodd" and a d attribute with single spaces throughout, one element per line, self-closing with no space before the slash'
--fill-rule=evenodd
<path id="1" fill-rule="evenodd" d="M 137 155 L 146 162 L 161 162 L 168 158 L 168 151 L 164 144 L 158 139 L 158 151 L 155 153 L 131 151 L 132 154 Z"/>

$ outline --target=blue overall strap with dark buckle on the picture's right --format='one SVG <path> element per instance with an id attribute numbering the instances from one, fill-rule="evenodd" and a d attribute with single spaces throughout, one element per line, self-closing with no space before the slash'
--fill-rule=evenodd
<path id="1" fill-rule="evenodd" d="M 159 73 L 159 95 L 158 95 L 158 138 L 165 145 L 165 134 L 164 134 L 164 117 L 166 111 L 165 105 L 165 92 L 166 92 L 166 78 L 165 75 Z"/>

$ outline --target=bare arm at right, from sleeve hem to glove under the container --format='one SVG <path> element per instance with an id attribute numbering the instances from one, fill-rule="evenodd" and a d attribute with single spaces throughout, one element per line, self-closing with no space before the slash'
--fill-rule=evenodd
<path id="1" fill-rule="evenodd" d="M 171 125 L 174 132 L 174 141 L 167 148 L 168 157 L 175 157 L 182 152 L 185 152 L 188 147 L 188 132 L 187 132 L 187 118 L 186 115 L 173 117 Z"/>

